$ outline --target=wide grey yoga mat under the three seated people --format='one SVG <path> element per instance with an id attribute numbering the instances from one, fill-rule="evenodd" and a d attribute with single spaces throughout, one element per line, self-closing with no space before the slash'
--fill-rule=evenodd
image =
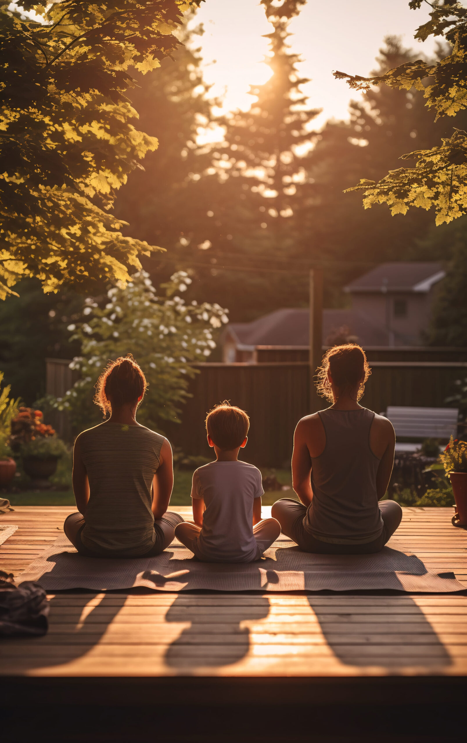
<path id="1" fill-rule="evenodd" d="M 31 563 L 19 582 L 34 580 L 48 591 L 90 588 L 106 591 L 144 586 L 156 591 L 464 591 L 453 573 L 430 573 L 411 552 L 384 547 L 372 555 L 318 555 L 300 552 L 281 536 L 265 557 L 242 564 L 199 562 L 180 542 L 157 557 L 81 557 L 65 536 Z"/>

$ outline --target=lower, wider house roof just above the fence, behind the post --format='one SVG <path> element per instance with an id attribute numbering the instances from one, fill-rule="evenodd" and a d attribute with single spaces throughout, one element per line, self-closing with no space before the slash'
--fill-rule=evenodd
<path id="1" fill-rule="evenodd" d="M 387 330 L 375 325 L 363 312 L 355 310 L 323 310 L 323 343 L 340 328 L 347 327 L 361 345 L 389 345 Z M 283 309 L 259 317 L 253 322 L 230 322 L 225 328 L 228 336 L 241 351 L 254 351 L 257 346 L 309 347 L 308 309 Z M 396 345 L 404 345 L 395 334 Z"/>

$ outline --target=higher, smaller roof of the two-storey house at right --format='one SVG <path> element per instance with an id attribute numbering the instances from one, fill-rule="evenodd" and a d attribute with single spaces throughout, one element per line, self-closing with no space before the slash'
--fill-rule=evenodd
<path id="1" fill-rule="evenodd" d="M 428 292 L 443 279 L 445 271 L 437 262 L 394 262 L 382 263 L 363 276 L 350 282 L 344 291 L 382 292 L 413 291 Z"/>

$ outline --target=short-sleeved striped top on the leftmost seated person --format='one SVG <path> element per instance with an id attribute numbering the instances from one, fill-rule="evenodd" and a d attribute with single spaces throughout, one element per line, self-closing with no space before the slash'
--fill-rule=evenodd
<path id="1" fill-rule="evenodd" d="M 89 481 L 83 545 L 121 557 L 145 554 L 155 541 L 152 478 L 164 436 L 145 426 L 106 422 L 78 438 Z"/>

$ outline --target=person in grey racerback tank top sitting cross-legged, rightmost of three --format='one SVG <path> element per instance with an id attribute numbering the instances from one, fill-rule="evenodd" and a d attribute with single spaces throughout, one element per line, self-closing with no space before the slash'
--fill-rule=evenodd
<path id="1" fill-rule="evenodd" d="M 329 349 L 318 392 L 332 405 L 295 429 L 292 482 L 301 503 L 281 499 L 271 515 L 303 551 L 379 552 L 401 522 L 399 504 L 381 502 L 393 470 L 393 426 L 358 404 L 369 374 L 359 345 Z"/>

